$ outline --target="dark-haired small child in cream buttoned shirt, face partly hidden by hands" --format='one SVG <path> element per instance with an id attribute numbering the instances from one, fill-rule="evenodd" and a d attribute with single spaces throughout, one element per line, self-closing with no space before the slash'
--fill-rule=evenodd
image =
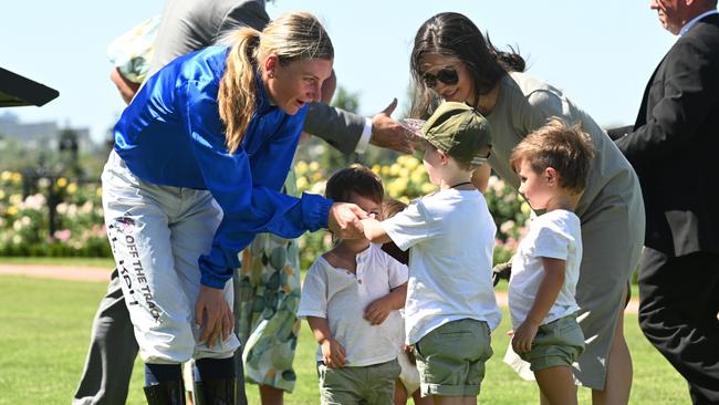
<path id="1" fill-rule="evenodd" d="M 363 166 L 327 181 L 327 198 L 354 202 L 382 217 L 384 189 Z M 399 376 L 396 330 L 405 305 L 407 267 L 362 238 L 342 239 L 310 268 L 298 315 L 306 318 L 320 347 L 322 404 L 392 404 Z"/>

